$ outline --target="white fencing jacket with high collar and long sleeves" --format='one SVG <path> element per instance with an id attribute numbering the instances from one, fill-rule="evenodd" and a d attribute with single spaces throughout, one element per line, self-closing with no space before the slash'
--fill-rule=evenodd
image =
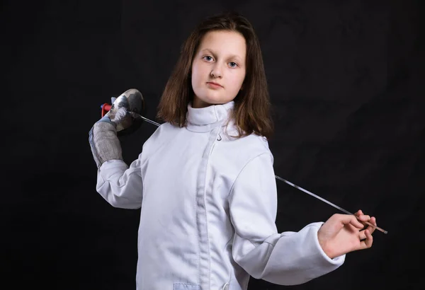
<path id="1" fill-rule="evenodd" d="M 230 137 L 233 106 L 188 105 L 187 127 L 162 124 L 130 167 L 98 169 L 107 202 L 141 207 L 137 290 L 242 290 L 249 275 L 302 284 L 344 263 L 320 247 L 322 222 L 278 233 L 273 156 L 263 137 Z"/>

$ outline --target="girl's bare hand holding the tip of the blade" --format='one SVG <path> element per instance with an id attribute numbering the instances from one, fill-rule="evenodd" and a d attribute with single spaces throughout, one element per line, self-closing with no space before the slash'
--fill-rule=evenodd
<path id="1" fill-rule="evenodd" d="M 355 215 L 357 218 L 351 214 L 334 214 L 317 232 L 319 244 L 331 259 L 372 246 L 375 227 L 365 228 L 361 221 L 376 226 L 375 217 L 363 214 L 360 209 Z"/>

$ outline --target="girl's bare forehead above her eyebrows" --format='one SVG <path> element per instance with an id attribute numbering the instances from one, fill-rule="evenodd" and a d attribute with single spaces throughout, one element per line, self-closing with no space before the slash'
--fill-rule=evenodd
<path id="1" fill-rule="evenodd" d="M 245 58 L 245 37 L 235 31 L 218 30 L 206 33 L 199 46 L 199 51 L 210 50 L 215 54 L 231 54 Z"/>

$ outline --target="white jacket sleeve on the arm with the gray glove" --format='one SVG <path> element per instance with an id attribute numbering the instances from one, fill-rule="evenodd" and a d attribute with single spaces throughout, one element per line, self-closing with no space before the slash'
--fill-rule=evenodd
<path id="1" fill-rule="evenodd" d="M 96 191 L 113 207 L 142 207 L 143 181 L 140 156 L 130 167 L 121 160 L 106 161 L 98 168 Z"/>

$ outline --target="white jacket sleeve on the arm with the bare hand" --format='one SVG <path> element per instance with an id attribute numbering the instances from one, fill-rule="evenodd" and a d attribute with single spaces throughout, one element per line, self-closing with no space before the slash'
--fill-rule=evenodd
<path id="1" fill-rule="evenodd" d="M 229 195 L 229 211 L 235 231 L 233 259 L 256 279 L 302 284 L 344 263 L 345 255 L 331 259 L 319 245 L 317 231 L 322 222 L 308 224 L 298 232 L 277 232 L 271 153 L 252 159 L 239 173 Z"/>

